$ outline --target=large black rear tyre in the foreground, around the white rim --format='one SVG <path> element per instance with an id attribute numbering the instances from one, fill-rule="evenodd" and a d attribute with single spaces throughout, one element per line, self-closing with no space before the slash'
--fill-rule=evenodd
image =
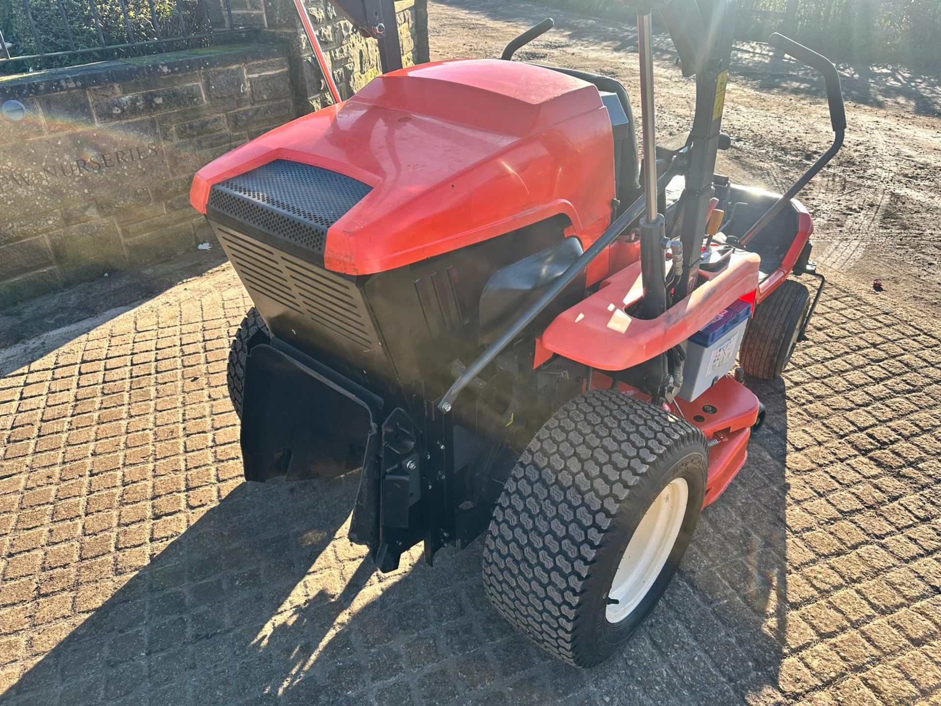
<path id="1" fill-rule="evenodd" d="M 490 602 L 574 666 L 611 655 L 660 600 L 686 552 L 706 491 L 706 439 L 688 422 L 611 391 L 569 401 L 536 433 L 494 507 L 484 546 Z M 608 622 L 614 571 L 647 507 L 689 484 L 686 515 L 643 601 Z"/>

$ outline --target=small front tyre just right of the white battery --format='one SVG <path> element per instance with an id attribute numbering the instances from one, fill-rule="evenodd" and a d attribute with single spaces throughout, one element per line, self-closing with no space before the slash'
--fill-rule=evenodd
<path id="1" fill-rule="evenodd" d="M 784 372 L 809 306 L 805 286 L 793 280 L 782 282 L 758 304 L 739 351 L 739 361 L 748 375 L 774 380 Z"/>

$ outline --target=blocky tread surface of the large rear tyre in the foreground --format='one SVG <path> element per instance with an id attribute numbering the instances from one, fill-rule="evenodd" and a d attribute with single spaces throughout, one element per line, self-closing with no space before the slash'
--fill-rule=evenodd
<path id="1" fill-rule="evenodd" d="M 705 458 L 694 425 L 622 393 L 592 391 L 559 409 L 519 458 L 486 532 L 484 585 L 503 618 L 587 666 L 575 629 L 589 618 L 583 586 L 605 533 L 638 484 L 656 480 L 656 459 L 697 441 Z"/>

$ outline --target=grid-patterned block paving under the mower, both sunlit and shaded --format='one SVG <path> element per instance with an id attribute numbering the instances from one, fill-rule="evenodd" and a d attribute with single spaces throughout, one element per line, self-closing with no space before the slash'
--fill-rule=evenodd
<path id="1" fill-rule="evenodd" d="M 247 304 L 224 268 L 0 380 L 3 702 L 941 703 L 938 329 L 832 286 L 665 601 L 578 671 L 477 546 L 376 575 L 355 477 L 242 482 Z"/>

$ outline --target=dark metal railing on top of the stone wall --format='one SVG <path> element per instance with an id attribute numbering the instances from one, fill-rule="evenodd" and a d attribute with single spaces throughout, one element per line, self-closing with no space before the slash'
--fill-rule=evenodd
<path id="1" fill-rule="evenodd" d="M 244 31 L 231 0 L 12 0 L 15 19 L 0 26 L 0 73 L 74 65 L 208 46 Z M 10 30 L 13 36 L 10 37 Z"/>

